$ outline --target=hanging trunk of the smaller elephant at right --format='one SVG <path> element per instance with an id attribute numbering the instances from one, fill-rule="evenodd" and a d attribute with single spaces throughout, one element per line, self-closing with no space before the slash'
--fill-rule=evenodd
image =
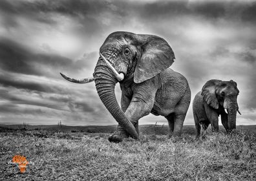
<path id="1" fill-rule="evenodd" d="M 236 119 L 237 119 L 237 110 L 238 110 L 237 101 L 231 101 L 231 103 L 228 104 L 229 131 L 232 131 L 233 129 L 235 129 Z"/>

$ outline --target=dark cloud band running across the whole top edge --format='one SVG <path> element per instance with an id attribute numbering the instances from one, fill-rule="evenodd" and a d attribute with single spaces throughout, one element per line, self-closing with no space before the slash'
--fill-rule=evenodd
<path id="1" fill-rule="evenodd" d="M 237 11 L 237 9 L 239 11 Z M 172 16 L 202 16 L 206 18 L 225 17 L 228 14 L 241 14 L 242 21 L 255 21 L 256 3 L 228 1 L 155 1 L 142 3 L 140 1 L 0 1 L 0 9 L 4 13 L 8 25 L 14 27 L 19 16 L 34 19 L 41 23 L 56 24 L 51 13 L 76 18 L 87 33 L 94 34 L 102 30 L 98 14 L 111 12 L 114 17 L 131 17 L 140 14 L 144 19 L 172 18 Z M 241 10 L 242 9 L 242 10 Z M 229 16 L 237 17 L 237 16 Z M 15 23 L 16 22 L 16 23 Z M 90 23 L 90 26 L 86 24 Z"/>

